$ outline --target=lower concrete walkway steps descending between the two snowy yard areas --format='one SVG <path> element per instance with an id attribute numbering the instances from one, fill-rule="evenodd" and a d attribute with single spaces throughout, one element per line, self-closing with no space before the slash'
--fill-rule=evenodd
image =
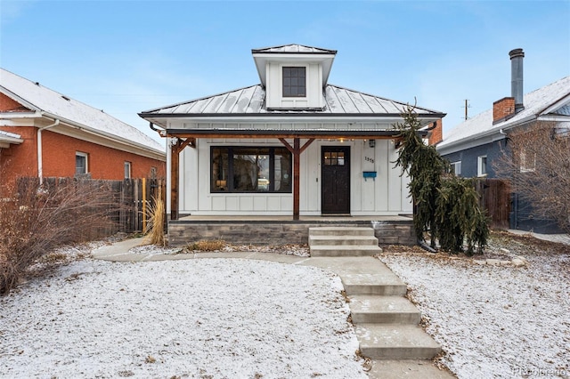
<path id="1" fill-rule="evenodd" d="M 431 362 L 440 345 L 419 327 L 420 312 L 404 297 L 407 286 L 379 259 L 312 257 L 310 265 L 341 278 L 359 350 L 371 359 L 371 379 L 454 377 Z"/>

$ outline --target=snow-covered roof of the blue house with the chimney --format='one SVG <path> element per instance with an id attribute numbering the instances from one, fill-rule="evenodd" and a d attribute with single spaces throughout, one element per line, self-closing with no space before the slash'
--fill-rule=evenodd
<path id="1" fill-rule="evenodd" d="M 493 125 L 493 109 L 487 109 L 476 117 L 454 127 L 437 149 L 451 149 L 463 141 L 497 133 L 501 129 L 524 124 L 529 120 L 547 115 L 568 115 L 570 107 L 570 77 L 563 77 L 550 85 L 545 85 L 523 98 L 525 109 L 514 117 Z M 557 106 L 558 104 L 558 106 Z M 555 106 L 554 109 L 551 109 Z"/>

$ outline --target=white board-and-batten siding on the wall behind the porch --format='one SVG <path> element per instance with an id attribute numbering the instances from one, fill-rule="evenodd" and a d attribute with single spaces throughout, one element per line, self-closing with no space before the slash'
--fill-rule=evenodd
<path id="1" fill-rule="evenodd" d="M 303 144 L 306 140 L 301 140 Z M 291 143 L 289 141 L 289 143 Z M 321 148 L 350 146 L 351 214 L 411 214 L 407 175 L 394 167 L 397 157 L 390 140 L 314 141 L 301 155 L 300 214 L 321 214 Z M 210 191 L 210 147 L 212 146 L 281 146 L 273 140 L 199 139 L 197 148 L 186 148 L 180 155 L 180 214 L 193 215 L 289 215 L 293 213 L 292 193 L 212 193 Z M 170 154 L 167 155 L 168 159 Z M 168 162 L 168 165 L 170 162 Z M 169 169 L 169 168 L 168 168 Z M 363 171 L 376 171 L 375 180 L 362 176 Z M 170 183 L 168 182 L 168 186 Z M 167 197 L 170 190 L 167 190 Z M 167 206 L 170 199 L 167 199 Z M 168 209 L 169 212 L 169 209 Z"/>

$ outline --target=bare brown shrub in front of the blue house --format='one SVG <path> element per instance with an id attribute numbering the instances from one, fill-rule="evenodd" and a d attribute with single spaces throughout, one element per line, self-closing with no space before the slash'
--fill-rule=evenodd
<path id="1" fill-rule="evenodd" d="M 494 165 L 533 213 L 570 232 L 570 136 L 555 123 L 535 122 L 509 133 L 508 149 Z"/>

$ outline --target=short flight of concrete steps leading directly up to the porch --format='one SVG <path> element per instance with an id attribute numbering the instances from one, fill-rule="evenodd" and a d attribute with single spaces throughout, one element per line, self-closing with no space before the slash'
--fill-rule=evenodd
<path id="1" fill-rule="evenodd" d="M 372 228 L 309 228 L 311 256 L 362 256 L 381 253 Z"/>

